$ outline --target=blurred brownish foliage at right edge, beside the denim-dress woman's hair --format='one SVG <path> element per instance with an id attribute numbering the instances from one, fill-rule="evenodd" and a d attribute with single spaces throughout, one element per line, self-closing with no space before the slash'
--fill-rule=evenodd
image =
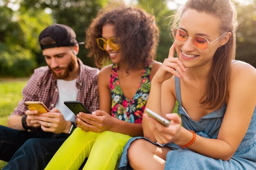
<path id="1" fill-rule="evenodd" d="M 238 9 L 236 59 L 245 61 L 256 68 L 256 0 Z"/>

